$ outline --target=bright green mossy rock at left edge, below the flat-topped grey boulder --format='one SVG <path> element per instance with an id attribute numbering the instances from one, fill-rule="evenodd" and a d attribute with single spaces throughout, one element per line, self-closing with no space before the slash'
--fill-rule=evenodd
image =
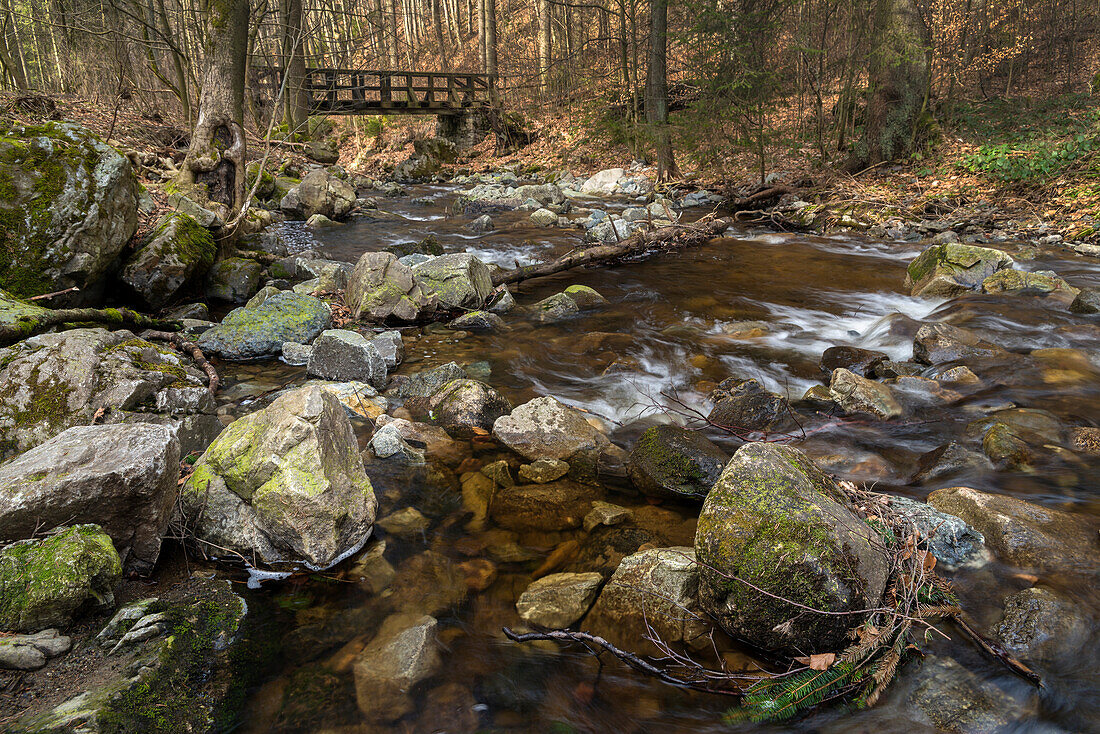
<path id="1" fill-rule="evenodd" d="M 76 525 L 0 549 L 0 631 L 64 627 L 114 605 L 122 560 L 97 525 Z"/>

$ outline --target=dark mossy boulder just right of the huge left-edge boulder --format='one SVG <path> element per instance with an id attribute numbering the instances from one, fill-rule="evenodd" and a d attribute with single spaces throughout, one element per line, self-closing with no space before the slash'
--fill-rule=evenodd
<path id="1" fill-rule="evenodd" d="M 170 213 L 130 255 L 120 277 L 150 308 L 161 309 L 206 275 L 217 254 L 210 230 L 187 215 Z"/>

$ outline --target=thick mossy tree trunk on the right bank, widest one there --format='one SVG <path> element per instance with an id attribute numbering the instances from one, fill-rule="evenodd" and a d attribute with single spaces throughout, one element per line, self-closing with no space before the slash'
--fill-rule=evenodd
<path id="1" fill-rule="evenodd" d="M 864 139 L 849 161 L 854 171 L 908 155 L 926 124 L 931 40 L 915 0 L 877 0 L 871 44 Z"/>

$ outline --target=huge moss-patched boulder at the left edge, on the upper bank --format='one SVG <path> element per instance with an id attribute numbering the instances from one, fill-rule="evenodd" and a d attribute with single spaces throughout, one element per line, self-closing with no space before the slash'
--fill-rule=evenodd
<path id="1" fill-rule="evenodd" d="M 138 229 L 130 161 L 72 123 L 0 123 L 0 287 L 90 305 Z"/>

